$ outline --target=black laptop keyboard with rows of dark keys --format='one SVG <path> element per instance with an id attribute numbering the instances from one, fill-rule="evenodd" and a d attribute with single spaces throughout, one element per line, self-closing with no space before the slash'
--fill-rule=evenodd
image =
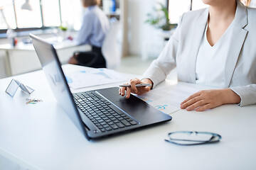
<path id="1" fill-rule="evenodd" d="M 76 105 L 101 132 L 137 125 L 137 121 L 125 113 L 117 113 L 112 104 L 95 91 L 73 94 Z"/>

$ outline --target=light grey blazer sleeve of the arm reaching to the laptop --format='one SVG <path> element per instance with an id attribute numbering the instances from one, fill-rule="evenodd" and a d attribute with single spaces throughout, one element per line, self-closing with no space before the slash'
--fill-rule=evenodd
<path id="1" fill-rule="evenodd" d="M 159 57 L 150 64 L 149 68 L 146 69 L 146 72 L 143 74 L 143 79 L 151 79 L 153 82 L 152 89 L 154 89 L 154 87 L 161 81 L 164 81 L 171 70 L 176 67 L 176 53 L 181 32 L 182 18 L 183 16 L 181 17 L 181 21 L 178 23 L 178 27 L 174 34 L 171 35 L 171 38 L 164 47 L 164 50 Z"/>

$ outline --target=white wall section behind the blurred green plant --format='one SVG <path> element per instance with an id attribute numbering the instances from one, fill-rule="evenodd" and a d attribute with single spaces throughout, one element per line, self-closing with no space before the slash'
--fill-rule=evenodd
<path id="1" fill-rule="evenodd" d="M 149 55 L 159 55 L 163 47 L 161 30 L 150 26 L 146 14 L 150 13 L 157 2 L 165 0 L 128 0 L 128 42 L 130 55 L 142 56 L 143 50 L 149 50 Z"/>

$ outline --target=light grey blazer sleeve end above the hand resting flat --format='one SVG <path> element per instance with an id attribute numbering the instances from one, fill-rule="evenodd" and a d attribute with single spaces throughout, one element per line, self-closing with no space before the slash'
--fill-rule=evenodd
<path id="1" fill-rule="evenodd" d="M 256 84 L 250 84 L 247 86 L 235 86 L 230 87 L 238 96 L 240 96 L 241 101 L 239 106 L 247 106 L 256 104 Z"/>

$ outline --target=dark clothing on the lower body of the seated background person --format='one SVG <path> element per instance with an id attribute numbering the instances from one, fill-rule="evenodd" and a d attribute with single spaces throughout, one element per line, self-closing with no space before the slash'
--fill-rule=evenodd
<path id="1" fill-rule="evenodd" d="M 90 52 L 75 52 L 78 55 L 78 64 L 86 67 L 106 68 L 106 61 L 102 55 L 101 47 L 92 46 Z"/>

